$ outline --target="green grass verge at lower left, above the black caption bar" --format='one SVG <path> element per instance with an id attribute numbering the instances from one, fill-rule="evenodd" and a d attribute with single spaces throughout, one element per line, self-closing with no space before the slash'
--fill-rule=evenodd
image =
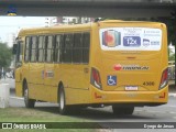
<path id="1" fill-rule="evenodd" d="M 51 108 L 52 109 L 52 108 Z M 37 109 L 26 109 L 26 108 L 6 108 L 0 109 L 0 121 L 1 122 L 73 122 L 80 121 L 76 118 L 68 116 L 61 116 L 58 113 L 52 113 L 48 111 L 42 111 Z"/>

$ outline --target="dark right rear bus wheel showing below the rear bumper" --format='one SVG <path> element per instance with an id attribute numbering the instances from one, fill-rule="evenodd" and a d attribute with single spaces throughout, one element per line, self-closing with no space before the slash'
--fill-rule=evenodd
<path id="1" fill-rule="evenodd" d="M 113 113 L 117 116 L 120 114 L 132 114 L 134 111 L 134 107 L 118 107 L 112 106 Z"/>

